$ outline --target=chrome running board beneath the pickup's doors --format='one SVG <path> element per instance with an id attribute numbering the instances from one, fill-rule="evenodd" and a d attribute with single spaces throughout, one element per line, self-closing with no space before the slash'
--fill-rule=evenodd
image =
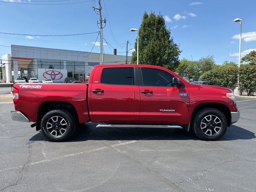
<path id="1" fill-rule="evenodd" d="M 183 129 L 182 126 L 179 125 L 141 125 L 141 124 L 98 124 L 96 127 L 121 127 L 121 128 L 178 128 Z"/>

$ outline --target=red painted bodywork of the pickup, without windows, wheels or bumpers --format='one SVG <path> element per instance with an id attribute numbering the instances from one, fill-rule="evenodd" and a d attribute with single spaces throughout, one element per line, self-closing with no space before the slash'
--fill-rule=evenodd
<path id="1" fill-rule="evenodd" d="M 148 67 L 164 70 L 180 78 L 184 87 L 101 84 L 102 69 L 110 67 Z M 20 88 L 19 85 L 14 84 L 14 88 L 19 93 L 15 109 L 22 111 L 32 122 L 36 122 L 40 104 L 48 101 L 62 101 L 72 104 L 78 113 L 80 123 L 90 120 L 92 122 L 144 122 L 185 125 L 190 122 L 194 108 L 202 103 L 224 104 L 230 111 L 237 111 L 234 102 L 226 97 L 226 93 L 231 93 L 230 89 L 190 84 L 174 72 L 159 66 L 97 65 L 92 69 L 88 85 L 40 84 L 42 85 L 40 89 Z M 87 88 L 88 95 L 86 96 Z M 104 92 L 92 92 L 92 90 L 104 90 Z M 152 93 L 141 93 L 143 90 L 152 91 Z M 180 94 L 187 95 L 180 96 Z M 86 97 L 88 97 L 88 108 Z M 175 111 L 162 112 L 160 109 Z"/>

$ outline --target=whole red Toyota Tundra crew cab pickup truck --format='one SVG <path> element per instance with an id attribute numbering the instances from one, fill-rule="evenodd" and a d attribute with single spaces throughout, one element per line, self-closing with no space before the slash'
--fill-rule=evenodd
<path id="1" fill-rule="evenodd" d="M 151 65 L 96 65 L 88 84 L 14 84 L 13 120 L 35 122 L 50 141 L 64 141 L 77 124 L 181 128 L 217 140 L 240 112 L 229 88 L 190 84 Z"/>

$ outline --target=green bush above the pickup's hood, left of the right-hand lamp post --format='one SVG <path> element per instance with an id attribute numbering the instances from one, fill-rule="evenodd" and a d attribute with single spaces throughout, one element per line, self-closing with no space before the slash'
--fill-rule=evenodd
<path id="1" fill-rule="evenodd" d="M 200 80 L 216 82 L 220 86 L 234 90 L 237 84 L 237 74 L 238 67 L 236 66 L 218 66 L 210 71 L 204 72 L 200 76 Z"/>

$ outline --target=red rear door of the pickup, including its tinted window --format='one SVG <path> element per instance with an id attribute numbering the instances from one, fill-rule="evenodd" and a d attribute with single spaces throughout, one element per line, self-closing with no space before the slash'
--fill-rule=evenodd
<path id="1" fill-rule="evenodd" d="M 134 67 L 98 66 L 88 93 L 92 120 L 138 122 L 140 92 L 136 81 Z"/>

